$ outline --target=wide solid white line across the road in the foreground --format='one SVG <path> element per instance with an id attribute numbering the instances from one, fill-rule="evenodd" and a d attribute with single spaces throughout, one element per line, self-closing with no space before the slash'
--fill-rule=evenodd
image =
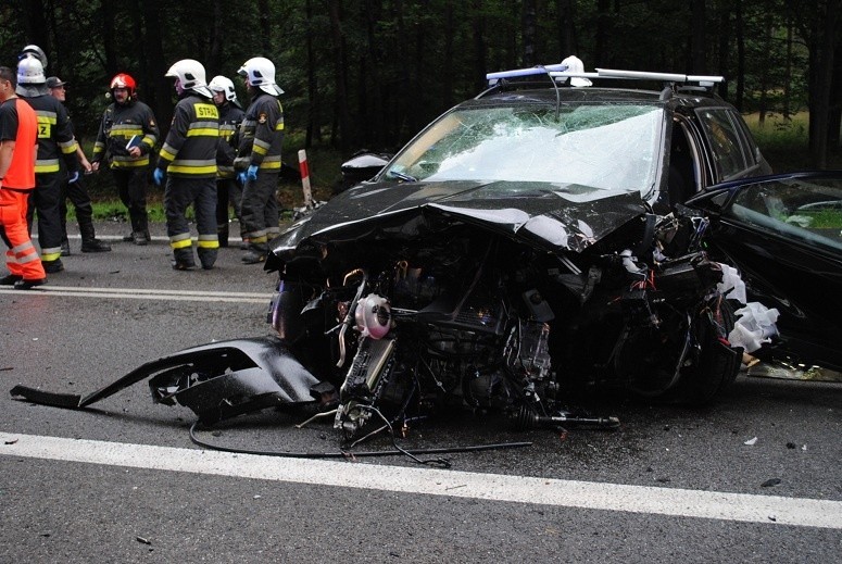
<path id="1" fill-rule="evenodd" d="M 0 455 L 535 505 L 842 529 L 842 501 L 830 500 L 375 466 L 11 433 L 0 433 Z"/>

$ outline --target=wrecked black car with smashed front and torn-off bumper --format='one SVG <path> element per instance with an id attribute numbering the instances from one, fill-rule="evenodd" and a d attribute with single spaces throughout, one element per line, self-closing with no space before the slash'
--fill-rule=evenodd
<path id="1" fill-rule="evenodd" d="M 611 427 L 564 406 L 705 403 L 758 359 L 842 369 L 842 175 L 768 176 L 717 77 L 489 78 L 273 241 L 276 336 L 13 394 L 84 408 L 150 378 L 204 424 L 306 404 L 359 438 L 463 406 Z"/>

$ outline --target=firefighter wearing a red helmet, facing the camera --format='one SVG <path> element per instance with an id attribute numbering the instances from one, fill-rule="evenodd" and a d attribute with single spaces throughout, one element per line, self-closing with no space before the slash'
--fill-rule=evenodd
<path id="1" fill-rule="evenodd" d="M 114 102 L 102 114 L 90 165 L 97 172 L 103 160 L 111 162 L 117 193 L 131 222 L 131 234 L 123 240 L 148 245 L 147 172 L 158 142 L 158 122 L 152 110 L 137 99 L 137 83 L 131 76 L 115 75 L 109 88 Z"/>

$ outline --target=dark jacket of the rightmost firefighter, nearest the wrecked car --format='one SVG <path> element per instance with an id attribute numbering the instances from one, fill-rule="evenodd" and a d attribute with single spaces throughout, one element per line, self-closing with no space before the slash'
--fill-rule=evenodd
<path id="1" fill-rule="evenodd" d="M 240 124 L 240 147 L 235 166 L 257 165 L 261 171 L 280 172 L 280 147 L 284 142 L 284 109 L 272 95 L 261 92 Z"/>

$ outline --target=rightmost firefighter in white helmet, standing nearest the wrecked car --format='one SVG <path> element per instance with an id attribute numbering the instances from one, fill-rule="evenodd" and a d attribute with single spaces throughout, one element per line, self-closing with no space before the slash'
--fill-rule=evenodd
<path id="1" fill-rule="evenodd" d="M 240 146 L 235 166 L 242 188 L 242 229 L 249 249 L 242 262 L 266 260 L 269 238 L 278 225 L 278 175 L 284 141 L 284 109 L 277 97 L 284 90 L 275 84 L 275 65 L 268 59 L 249 59 L 238 71 L 246 78 L 251 104 L 240 125 Z"/>

